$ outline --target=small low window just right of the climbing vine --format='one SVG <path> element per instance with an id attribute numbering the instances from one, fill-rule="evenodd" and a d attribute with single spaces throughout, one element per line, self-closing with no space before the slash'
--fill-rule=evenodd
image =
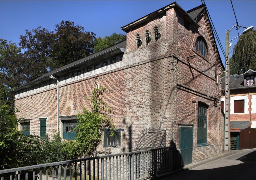
<path id="1" fill-rule="evenodd" d="M 111 136 L 111 133 L 114 133 Z M 121 146 L 121 132 L 119 130 L 113 132 L 105 130 L 103 133 L 103 146 L 107 147 L 120 147 Z"/>

